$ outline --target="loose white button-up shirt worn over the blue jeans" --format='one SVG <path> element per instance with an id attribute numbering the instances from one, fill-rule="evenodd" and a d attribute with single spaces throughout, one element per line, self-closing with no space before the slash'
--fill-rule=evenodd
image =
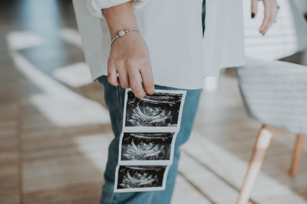
<path id="1" fill-rule="evenodd" d="M 101 9 L 128 1 L 73 0 L 85 58 L 93 80 L 107 75 L 107 61 L 110 54 L 111 36 Z M 229 35 L 227 30 L 220 32 L 225 31 L 223 22 L 229 16 L 218 11 L 225 12 L 229 9 L 226 6 L 232 4 L 227 3 L 226 0 L 206 1 L 206 31 L 203 39 L 202 2 L 202 0 L 133 1 L 139 30 L 149 48 L 155 84 L 182 89 L 199 89 L 204 85 L 205 75 L 218 76 L 220 68 L 227 67 L 227 63 L 231 66 L 243 64 L 244 60 L 241 60 L 244 59 L 243 18 L 241 18 L 242 38 L 239 39 L 241 37 L 239 35 L 230 43 L 231 46 L 234 43 L 240 44 L 237 46 L 240 51 L 236 51 L 239 57 L 235 57 L 234 60 L 231 58 L 228 62 L 227 53 L 234 53 L 233 48 L 225 48 L 225 44 L 219 40 Z M 231 0 L 231 2 L 237 2 L 237 5 L 239 2 L 239 11 L 241 8 L 242 16 L 242 0 Z M 238 9 L 232 12 L 235 11 Z M 219 18 L 218 15 L 223 17 Z M 240 15 L 236 16 L 240 17 Z M 238 24 L 237 21 L 235 22 Z M 239 21 L 238 27 L 240 24 Z M 239 29 L 239 32 L 241 30 Z M 231 36 L 234 37 L 235 33 Z M 228 41 L 228 38 L 226 40 Z"/>

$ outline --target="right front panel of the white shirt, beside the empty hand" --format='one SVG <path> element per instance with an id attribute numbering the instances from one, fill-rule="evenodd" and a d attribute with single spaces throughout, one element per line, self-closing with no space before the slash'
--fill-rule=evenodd
<path id="1" fill-rule="evenodd" d="M 242 0 L 206 0 L 203 45 L 205 76 L 245 64 Z"/>

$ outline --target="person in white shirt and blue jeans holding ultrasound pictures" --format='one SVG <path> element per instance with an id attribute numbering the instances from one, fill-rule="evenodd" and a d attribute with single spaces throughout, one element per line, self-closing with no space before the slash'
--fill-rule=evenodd
<path id="1" fill-rule="evenodd" d="M 258 0 L 251 0 L 251 2 L 252 17 L 254 17 L 257 13 Z M 100 203 L 168 204 L 171 202 L 177 176 L 180 156 L 178 147 L 188 140 L 191 133 L 204 77 L 217 76 L 220 68 L 223 68 L 217 62 L 225 62 L 225 59 L 220 57 L 222 56 L 220 50 L 217 49 L 220 46 L 219 39 L 224 39 L 223 45 L 228 45 L 228 48 L 220 46 L 224 55 L 236 53 L 234 57 L 228 59 L 231 61 L 228 65 L 239 66 L 244 63 L 242 1 L 73 0 L 73 3 L 85 58 L 90 67 L 92 79 L 104 85 L 105 101 L 115 135 L 115 139 L 109 146 L 105 184 Z M 259 30 L 262 34 L 275 21 L 278 8 L 276 0 L 263 0 L 263 3 L 265 18 Z M 220 23 L 221 19 L 232 19 L 233 27 L 224 26 Z M 210 36 L 214 39 L 210 39 Z M 233 46 L 233 43 L 236 46 Z M 136 106 L 137 102 L 140 106 L 142 103 L 145 104 L 142 105 L 142 117 L 132 115 L 133 120 L 126 121 L 126 124 L 132 126 L 139 126 L 140 123 L 153 126 L 145 120 L 146 117 L 150 117 L 150 114 L 159 115 L 163 108 L 179 110 L 178 104 L 182 96 L 169 95 L 168 98 L 165 96 L 159 96 L 159 98 L 155 95 L 155 90 L 166 90 L 166 92 L 167 90 L 186 90 L 179 132 L 121 134 L 127 88 L 131 88 L 133 94 L 129 96 L 130 99 L 128 97 L 125 114 L 130 114 L 130 108 Z M 156 97 L 157 102 L 153 106 L 146 105 L 148 104 L 146 100 L 151 96 Z M 166 102 L 161 98 L 164 98 Z M 165 105 L 157 105 L 159 103 Z M 176 124 L 172 122 L 175 115 L 165 114 L 165 120 L 157 119 L 158 122 L 154 125 L 163 125 L 165 122 L 169 126 L 174 126 Z M 118 176 L 118 179 L 123 181 L 121 187 L 131 188 L 139 185 L 146 187 L 159 185 L 160 177 L 163 177 L 165 171 L 163 166 L 158 168 L 147 166 L 145 170 L 142 166 L 116 169 L 121 135 L 123 160 L 139 158 L 163 160 L 170 157 L 169 148 L 159 144 L 159 141 L 170 144 L 175 134 L 177 137 L 174 143 L 173 162 L 168 170 L 165 190 L 114 192 L 116 172 L 121 173 Z M 133 146 L 129 146 L 131 143 Z M 137 147 L 142 148 L 142 154 L 133 155 Z M 147 150 L 155 151 L 157 154 L 148 157 Z M 125 177 L 127 172 L 129 175 Z M 143 182 L 144 180 L 146 182 Z"/>

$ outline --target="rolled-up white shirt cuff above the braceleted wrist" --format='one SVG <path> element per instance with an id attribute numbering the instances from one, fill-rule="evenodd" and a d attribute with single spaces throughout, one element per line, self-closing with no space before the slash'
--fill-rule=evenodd
<path id="1" fill-rule="evenodd" d="M 88 11 L 95 17 L 104 18 L 101 9 L 107 9 L 112 6 L 117 6 L 131 0 L 86 0 Z M 135 9 L 142 8 L 149 0 L 132 0 L 132 5 Z"/>

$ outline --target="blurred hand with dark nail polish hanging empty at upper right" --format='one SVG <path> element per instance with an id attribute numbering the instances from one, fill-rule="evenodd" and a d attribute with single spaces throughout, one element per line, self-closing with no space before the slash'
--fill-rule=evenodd
<path id="1" fill-rule="evenodd" d="M 260 0 L 251 0 L 251 17 L 254 18 L 257 14 L 257 3 Z M 276 22 L 278 6 L 276 0 L 261 0 L 264 5 L 264 19 L 259 32 L 264 35 L 270 28 L 273 22 Z"/>

